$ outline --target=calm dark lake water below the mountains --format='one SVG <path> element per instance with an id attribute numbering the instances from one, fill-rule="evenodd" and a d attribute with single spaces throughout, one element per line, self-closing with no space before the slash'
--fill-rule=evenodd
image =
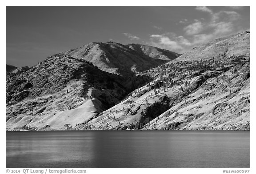
<path id="1" fill-rule="evenodd" d="M 250 168 L 250 131 L 6 132 L 6 168 Z"/>

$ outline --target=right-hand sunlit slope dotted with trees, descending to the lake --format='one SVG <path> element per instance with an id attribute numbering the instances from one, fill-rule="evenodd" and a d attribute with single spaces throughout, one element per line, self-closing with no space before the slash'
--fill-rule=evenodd
<path id="1" fill-rule="evenodd" d="M 197 49 L 141 73 L 154 81 L 76 129 L 250 130 L 250 33 Z"/>

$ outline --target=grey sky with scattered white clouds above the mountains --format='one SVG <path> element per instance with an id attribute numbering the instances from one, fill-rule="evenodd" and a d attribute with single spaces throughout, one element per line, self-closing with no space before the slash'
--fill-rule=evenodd
<path id="1" fill-rule="evenodd" d="M 250 30 L 250 6 L 6 6 L 6 64 L 33 66 L 91 42 L 177 52 Z"/>

